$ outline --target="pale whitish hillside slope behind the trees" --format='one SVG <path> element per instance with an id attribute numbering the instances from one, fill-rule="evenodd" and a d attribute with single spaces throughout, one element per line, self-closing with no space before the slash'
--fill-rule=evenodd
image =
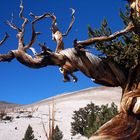
<path id="1" fill-rule="evenodd" d="M 52 110 L 53 104 L 56 111 L 55 125 L 58 125 L 63 132 L 63 140 L 86 140 L 80 135 L 71 136 L 73 111 L 90 102 L 97 105 L 115 102 L 118 105 L 120 98 L 120 88 L 98 87 L 61 94 L 31 105 L 9 110 L 8 115 L 12 116 L 13 120 L 11 122 L 0 121 L 0 140 L 22 140 L 29 124 L 33 128 L 37 140 L 46 140 L 43 123 L 45 124 L 45 131 L 47 131 L 49 106 Z"/>

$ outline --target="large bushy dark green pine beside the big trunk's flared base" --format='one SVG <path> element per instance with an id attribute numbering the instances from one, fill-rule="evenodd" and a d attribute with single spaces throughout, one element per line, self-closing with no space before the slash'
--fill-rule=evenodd
<path id="1" fill-rule="evenodd" d="M 101 107 L 90 103 L 86 107 L 74 111 L 71 133 L 72 135 L 80 133 L 89 138 L 100 126 L 117 114 L 117 106 L 114 103 L 111 106 L 102 105 Z"/>

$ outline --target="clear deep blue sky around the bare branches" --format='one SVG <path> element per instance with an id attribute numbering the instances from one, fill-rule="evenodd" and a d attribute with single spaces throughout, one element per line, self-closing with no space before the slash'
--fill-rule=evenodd
<path id="1" fill-rule="evenodd" d="M 23 0 L 25 7 L 25 16 L 32 11 L 36 15 L 45 12 L 53 12 L 57 16 L 57 23 L 61 31 L 66 31 L 71 20 L 71 11 L 76 10 L 76 20 L 73 28 L 64 39 L 65 48 L 73 47 L 75 38 L 84 40 L 88 38 L 87 26 L 91 25 L 98 28 L 103 18 L 106 18 L 113 31 L 123 27 L 119 17 L 119 9 L 124 9 L 126 2 L 123 0 Z M 14 14 L 14 23 L 20 26 L 21 20 L 18 17 L 20 0 L 1 0 L 0 4 L 0 38 L 4 32 L 10 34 L 7 42 L 0 46 L 0 53 L 7 53 L 8 50 L 17 48 L 16 31 L 10 29 L 4 24 L 6 20 L 11 19 L 11 13 Z M 55 49 L 56 44 L 51 40 L 50 20 L 43 20 L 38 23 L 37 31 L 41 31 L 37 39 L 38 42 L 46 42 L 51 49 Z M 27 27 L 25 42 L 30 39 L 30 25 Z M 37 43 L 34 45 L 38 48 Z M 76 73 L 77 83 L 63 83 L 63 76 L 57 67 L 46 67 L 42 69 L 30 69 L 21 65 L 16 60 L 11 63 L 0 63 L 0 100 L 29 104 L 56 94 L 71 92 L 88 87 L 97 86 L 90 79 L 80 72 Z"/>

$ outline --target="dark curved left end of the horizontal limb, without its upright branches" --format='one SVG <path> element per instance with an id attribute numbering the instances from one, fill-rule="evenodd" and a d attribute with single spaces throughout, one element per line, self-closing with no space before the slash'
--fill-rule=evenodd
<path id="1" fill-rule="evenodd" d="M 38 54 L 35 57 L 27 54 L 24 50 L 12 50 L 8 54 L 0 54 L 0 62 L 10 62 L 14 58 L 21 64 L 30 68 L 42 68 L 48 65 L 60 66 L 65 62 L 62 55 L 48 52 L 47 54 Z"/>

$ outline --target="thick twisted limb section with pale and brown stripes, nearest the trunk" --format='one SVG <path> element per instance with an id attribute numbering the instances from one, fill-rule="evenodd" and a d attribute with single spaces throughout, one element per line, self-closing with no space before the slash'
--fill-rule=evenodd
<path id="1" fill-rule="evenodd" d="M 77 51 L 75 48 L 72 48 L 65 49 L 60 54 L 66 57 L 73 71 L 79 70 L 83 72 L 96 83 L 121 87 L 125 83 L 125 75 L 117 66 L 102 60 L 90 52 Z"/>

